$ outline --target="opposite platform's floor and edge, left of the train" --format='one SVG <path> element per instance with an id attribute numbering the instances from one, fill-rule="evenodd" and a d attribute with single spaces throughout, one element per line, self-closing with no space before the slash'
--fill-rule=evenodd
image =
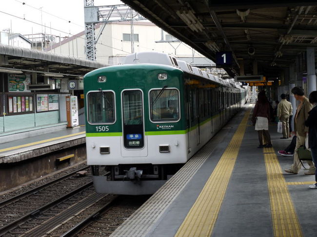
<path id="1" fill-rule="evenodd" d="M 13 134 L 15 136 L 15 134 Z M 46 134 L 0 144 L 0 163 L 14 163 L 85 143 L 85 126 L 54 130 Z"/>

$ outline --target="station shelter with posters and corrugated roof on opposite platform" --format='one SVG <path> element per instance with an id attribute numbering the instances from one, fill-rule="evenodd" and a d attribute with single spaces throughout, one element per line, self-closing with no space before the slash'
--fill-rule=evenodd
<path id="1" fill-rule="evenodd" d="M 104 66 L 0 44 L 0 142 L 66 128 L 65 98 L 83 88 L 85 73 Z"/>

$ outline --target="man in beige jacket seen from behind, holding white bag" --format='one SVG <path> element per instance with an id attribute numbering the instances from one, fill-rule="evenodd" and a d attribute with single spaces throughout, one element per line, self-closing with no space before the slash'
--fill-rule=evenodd
<path id="1" fill-rule="evenodd" d="M 277 117 L 282 122 L 283 137 L 281 139 L 287 139 L 290 136 L 289 118 L 292 111 L 292 104 L 286 100 L 286 94 L 281 94 L 281 101 L 277 105 Z"/>

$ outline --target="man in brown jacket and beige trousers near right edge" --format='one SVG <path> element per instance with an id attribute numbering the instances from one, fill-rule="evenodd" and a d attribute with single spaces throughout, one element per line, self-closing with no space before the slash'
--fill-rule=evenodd
<path id="1" fill-rule="evenodd" d="M 306 134 L 308 133 L 308 127 L 305 126 L 305 121 L 308 118 L 308 112 L 312 109 L 311 103 L 309 103 L 307 97 L 304 96 L 304 90 L 299 87 L 294 87 L 292 89 L 292 93 L 294 94 L 294 97 L 296 100 L 300 101 L 295 118 L 294 118 L 294 133 L 297 136 L 296 139 L 296 147 L 295 147 L 295 153 L 294 153 L 294 161 L 293 164 L 289 169 L 285 169 L 285 172 L 291 173 L 291 174 L 297 174 L 300 170 L 301 164 L 298 159 L 297 155 L 297 149 L 300 146 L 305 145 L 305 138 Z M 309 164 L 309 170 L 306 171 L 305 175 L 314 175 L 315 174 L 315 166 L 313 162 L 307 161 L 307 164 Z"/>

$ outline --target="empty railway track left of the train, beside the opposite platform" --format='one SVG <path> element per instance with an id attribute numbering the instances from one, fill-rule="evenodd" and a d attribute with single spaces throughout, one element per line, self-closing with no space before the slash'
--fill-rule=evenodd
<path id="1" fill-rule="evenodd" d="M 92 186 L 91 177 L 79 177 L 80 168 L 49 183 L 0 202 L 0 236 L 41 211 Z"/>

